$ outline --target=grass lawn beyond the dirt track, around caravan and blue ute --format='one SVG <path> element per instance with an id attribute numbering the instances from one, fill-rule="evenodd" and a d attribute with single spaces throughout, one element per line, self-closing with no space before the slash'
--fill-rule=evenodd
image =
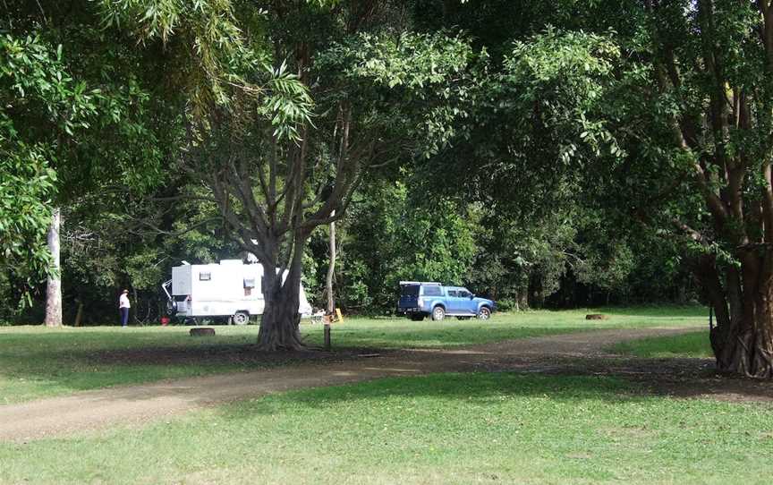
<path id="1" fill-rule="evenodd" d="M 594 328 L 697 327 L 705 319 L 698 307 L 607 309 L 609 319 L 593 321 L 584 319 L 588 312 L 526 311 L 495 314 L 488 321 L 346 319 L 334 324 L 333 343 L 338 348 L 447 347 Z M 219 326 L 213 338 L 192 338 L 188 329 L 0 328 L 0 404 L 286 363 L 234 358 L 250 353 L 257 327 Z M 321 345 L 321 325 L 303 324 L 302 332 L 310 345 Z"/>

